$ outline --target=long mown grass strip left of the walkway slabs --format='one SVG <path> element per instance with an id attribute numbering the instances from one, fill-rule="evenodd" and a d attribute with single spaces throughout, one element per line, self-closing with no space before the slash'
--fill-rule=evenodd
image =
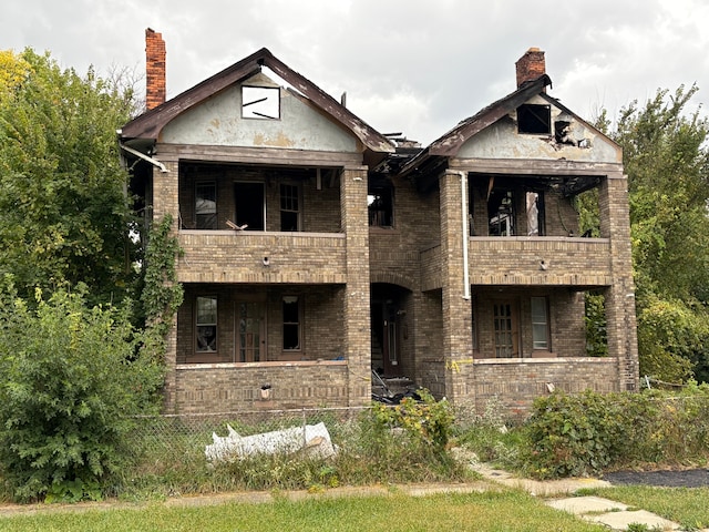
<path id="1" fill-rule="evenodd" d="M 0 531 L 274 531 L 301 532 L 603 532 L 603 526 L 558 512 L 517 491 L 436 494 L 413 498 L 364 497 L 277 500 L 267 504 L 229 503 L 168 508 L 148 504 L 131 509 L 51 512 L 0 518 Z"/>

